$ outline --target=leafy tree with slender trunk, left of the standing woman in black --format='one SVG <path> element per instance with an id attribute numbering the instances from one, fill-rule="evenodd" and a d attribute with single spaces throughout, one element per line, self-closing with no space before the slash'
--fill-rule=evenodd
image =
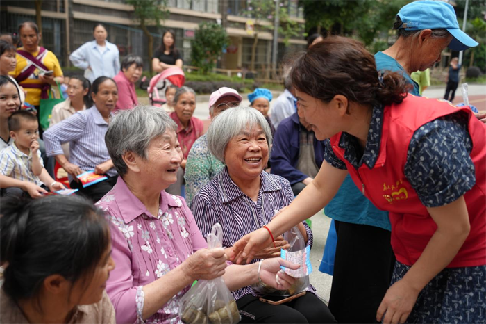
<path id="1" fill-rule="evenodd" d="M 133 6 L 135 20 L 137 20 L 144 35 L 149 39 L 147 49 L 149 58 L 151 58 L 153 56 L 153 35 L 147 28 L 147 24 L 156 24 L 157 27 L 160 27 L 160 22 L 165 20 L 169 14 L 167 0 L 126 0 L 126 3 Z M 150 72 L 152 72 L 152 65 L 149 64 L 149 67 Z"/>

